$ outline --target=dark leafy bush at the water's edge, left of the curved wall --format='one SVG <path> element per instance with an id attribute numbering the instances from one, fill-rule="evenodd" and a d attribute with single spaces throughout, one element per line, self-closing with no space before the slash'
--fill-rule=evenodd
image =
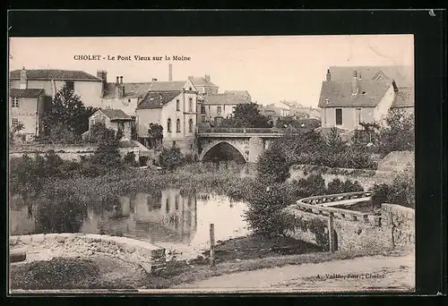
<path id="1" fill-rule="evenodd" d="M 268 237 L 285 235 L 290 216 L 282 209 L 293 202 L 287 184 L 275 183 L 266 187 L 263 183 L 255 183 L 245 212 L 249 228 L 254 234 Z"/>

